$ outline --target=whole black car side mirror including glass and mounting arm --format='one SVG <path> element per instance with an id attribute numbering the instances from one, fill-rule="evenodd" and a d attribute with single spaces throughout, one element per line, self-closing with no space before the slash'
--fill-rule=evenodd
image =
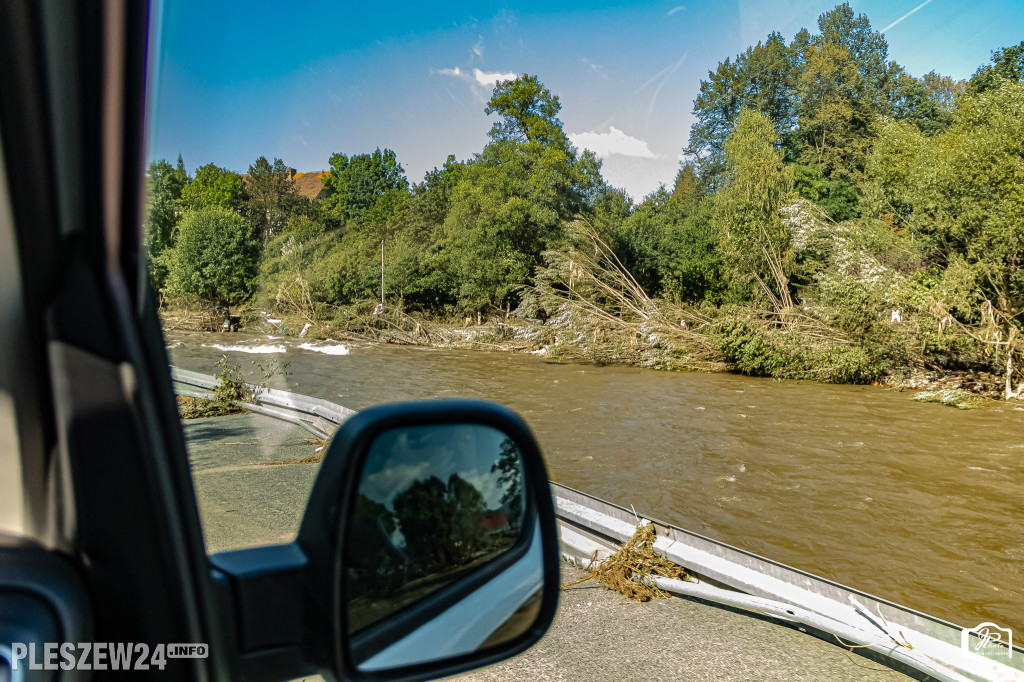
<path id="1" fill-rule="evenodd" d="M 513 412 L 479 400 L 352 416 L 296 542 L 211 562 L 236 600 L 239 672 L 254 679 L 455 675 L 536 643 L 559 592 L 540 449 Z"/>

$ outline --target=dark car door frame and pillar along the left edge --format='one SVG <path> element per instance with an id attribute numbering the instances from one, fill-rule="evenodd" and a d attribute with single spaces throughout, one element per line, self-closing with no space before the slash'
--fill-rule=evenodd
<path id="1" fill-rule="evenodd" d="M 22 530 L 35 541 L 23 550 L 58 572 L 88 565 L 63 587 L 91 612 L 52 625 L 152 648 L 207 641 L 217 613 L 202 606 L 212 597 L 202 535 L 140 278 L 148 22 L 144 3 L 0 8 L 5 285 L 13 285 L 0 345 L 20 464 L 19 480 L 5 485 L 19 488 Z M 5 569 L 17 564 L 5 557 Z M 167 672 L 214 679 L 219 665 L 212 655 Z"/>

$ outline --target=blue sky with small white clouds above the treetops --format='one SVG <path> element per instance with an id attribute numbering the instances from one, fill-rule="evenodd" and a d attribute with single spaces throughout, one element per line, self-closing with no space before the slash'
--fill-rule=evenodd
<path id="1" fill-rule="evenodd" d="M 495 79 L 528 73 L 604 177 L 641 199 L 675 177 L 708 71 L 771 31 L 815 33 L 836 2 L 432 4 L 165 0 L 150 156 L 246 172 L 262 155 L 310 171 L 380 146 L 418 182 L 449 154 L 479 152 Z M 915 76 L 969 77 L 1024 38 L 1018 0 L 851 5 Z"/>

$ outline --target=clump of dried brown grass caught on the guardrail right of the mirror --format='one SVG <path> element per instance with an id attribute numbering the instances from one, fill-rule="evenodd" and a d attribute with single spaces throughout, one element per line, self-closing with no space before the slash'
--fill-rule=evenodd
<path id="1" fill-rule="evenodd" d="M 608 558 L 597 561 L 595 555 L 590 562 L 590 573 L 583 581 L 593 578 L 609 590 L 614 590 L 634 601 L 668 597 L 668 592 L 657 588 L 647 579 L 651 576 L 660 576 L 688 581 L 690 577 L 682 566 L 654 551 L 654 525 L 652 523 L 641 525 L 629 542 Z"/>

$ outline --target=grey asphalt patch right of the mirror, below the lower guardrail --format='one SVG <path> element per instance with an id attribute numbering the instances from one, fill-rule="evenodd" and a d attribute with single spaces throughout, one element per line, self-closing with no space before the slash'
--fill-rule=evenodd
<path id="1" fill-rule="evenodd" d="M 583 577 L 578 568 L 562 568 L 563 584 Z M 679 597 L 637 603 L 587 581 L 562 590 L 555 623 L 534 648 L 458 679 L 882 682 L 909 678 L 745 613 Z"/>

